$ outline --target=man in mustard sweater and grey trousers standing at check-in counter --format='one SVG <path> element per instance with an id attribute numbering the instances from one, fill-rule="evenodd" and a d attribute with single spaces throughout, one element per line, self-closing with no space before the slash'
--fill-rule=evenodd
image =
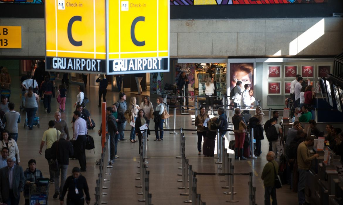
<path id="1" fill-rule="evenodd" d="M 310 154 L 309 146 L 313 145 L 314 138 L 307 136 L 304 142 L 301 142 L 297 149 L 297 163 L 298 163 L 298 203 L 306 204 L 305 201 L 305 186 L 309 169 L 311 167 L 312 159 L 319 157 L 319 154 Z"/>

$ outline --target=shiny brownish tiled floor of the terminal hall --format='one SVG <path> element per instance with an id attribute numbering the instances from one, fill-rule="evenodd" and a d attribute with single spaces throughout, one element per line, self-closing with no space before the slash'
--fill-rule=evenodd
<path id="1" fill-rule="evenodd" d="M 15 109 L 19 110 L 20 98 L 20 88 L 19 88 L 19 77 L 12 77 L 12 90 L 11 90 L 11 101 L 15 103 Z M 18 85 L 18 86 L 16 86 Z M 82 174 L 87 178 L 88 185 L 90 186 L 91 203 L 94 203 L 95 197 L 95 180 L 98 176 L 98 166 L 95 165 L 95 161 L 99 159 L 101 153 L 100 137 L 97 134 L 99 129 L 101 113 L 99 108 L 97 108 L 98 102 L 98 92 L 97 88 L 94 86 L 87 87 L 85 92 L 86 96 L 90 99 L 90 103 L 87 105 L 87 109 L 91 113 L 91 118 L 94 119 L 96 127 L 94 130 L 88 130 L 89 134 L 94 137 L 95 140 L 95 154 L 93 150 L 86 151 L 87 160 L 87 171 Z M 67 93 L 66 101 L 66 112 L 62 112 L 62 119 L 70 122 L 72 119 L 72 112 L 74 108 L 73 103 L 76 101 L 77 88 L 76 85 L 71 85 Z M 142 95 L 134 95 L 130 92 L 127 93 L 127 101 L 129 101 L 131 96 L 137 97 L 137 101 L 140 102 L 143 98 Z M 118 93 L 107 92 L 107 103 L 110 105 L 118 100 Z M 155 106 L 155 99 L 151 100 Z M 27 168 L 27 162 L 29 159 L 33 158 L 37 160 L 37 168 L 43 172 L 45 177 L 48 177 L 48 165 L 44 158 L 44 155 L 39 155 L 39 145 L 43 136 L 43 132 L 48 129 L 48 121 L 54 120 L 54 111 L 58 109 L 58 104 L 56 98 L 52 99 L 52 112 L 47 114 L 44 112 L 43 103 L 39 104 L 39 117 L 40 117 L 40 128 L 34 127 L 33 130 L 24 129 L 24 119 L 25 113 L 21 113 L 22 122 L 19 125 L 19 137 L 18 137 L 18 147 L 20 150 L 20 165 L 25 170 Z M 268 114 L 267 114 L 268 116 Z M 173 125 L 174 117 L 170 116 L 169 126 Z M 71 130 L 71 123 L 70 130 Z M 177 115 L 176 127 L 184 129 L 194 129 L 194 125 L 191 124 L 190 116 Z M 153 129 L 153 122 L 150 125 Z M 129 125 L 127 126 L 129 129 Z M 70 132 L 72 134 L 72 131 Z M 125 132 L 125 138 L 129 138 L 130 132 Z M 153 133 L 152 133 L 153 134 Z M 197 150 L 197 135 L 192 134 L 191 131 L 185 132 L 186 137 L 186 157 L 189 159 L 189 163 L 193 166 L 193 170 L 197 172 L 222 172 L 218 169 L 218 164 L 214 162 L 216 159 L 198 156 Z M 169 134 L 165 131 L 164 140 L 162 142 L 153 141 L 154 135 L 151 135 L 150 141 L 147 144 L 147 155 L 151 157 L 148 159 L 150 170 L 150 192 L 152 193 L 152 203 L 155 205 L 169 205 L 169 204 L 183 204 L 183 201 L 187 199 L 187 196 L 181 196 L 180 193 L 184 190 L 178 189 L 181 186 L 181 182 L 177 182 L 181 179 L 177 176 L 181 170 L 178 169 L 180 164 L 177 162 L 180 159 L 176 159 L 175 156 L 179 155 L 179 135 Z M 226 135 L 226 148 L 228 147 L 229 140 L 232 140 L 233 135 Z M 45 149 L 45 148 L 44 148 Z M 264 164 L 267 162 L 265 159 L 265 154 L 268 150 L 267 140 L 262 141 L 263 157 L 258 159 L 249 160 L 233 160 L 233 165 L 235 166 L 235 173 L 246 173 L 253 172 L 253 185 L 256 187 L 256 203 L 264 203 L 264 188 L 263 181 L 260 178 Z M 230 157 L 233 157 L 233 151 L 229 150 Z M 119 158 L 116 159 L 113 168 L 110 170 L 111 175 L 106 177 L 110 179 L 109 182 L 105 182 L 109 186 L 103 201 L 108 201 L 109 204 L 144 204 L 143 202 L 138 202 L 142 196 L 137 195 L 140 192 L 140 188 L 135 188 L 135 185 L 139 184 L 136 177 L 139 174 L 137 166 L 139 165 L 138 155 L 138 143 L 131 143 L 130 141 L 122 141 L 118 143 L 118 155 Z M 71 160 L 68 168 L 68 173 L 71 174 L 73 167 L 79 166 L 77 160 Z M 226 200 L 229 200 L 230 195 L 225 195 L 223 192 L 227 191 L 222 189 L 221 186 L 225 185 L 224 182 L 220 182 L 224 179 L 223 176 L 198 176 L 198 193 L 201 194 L 202 200 L 206 204 L 226 204 Z M 248 189 L 248 176 L 235 176 L 235 192 L 237 194 L 234 196 L 236 200 L 239 200 L 236 204 L 249 204 L 249 189 Z M 54 193 L 54 184 L 50 184 L 50 196 L 49 204 L 57 205 L 58 200 L 52 199 Z M 296 204 L 297 195 L 289 190 L 289 186 L 285 185 L 282 189 L 277 190 L 277 200 L 279 204 Z M 23 196 L 21 196 L 21 203 L 24 204 Z"/>

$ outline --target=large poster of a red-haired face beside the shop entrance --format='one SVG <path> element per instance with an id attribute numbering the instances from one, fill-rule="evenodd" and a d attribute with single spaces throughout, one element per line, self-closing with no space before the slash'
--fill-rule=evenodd
<path id="1" fill-rule="evenodd" d="M 230 63 L 230 90 L 236 86 L 237 81 L 250 85 L 254 89 L 254 64 L 253 63 Z"/>

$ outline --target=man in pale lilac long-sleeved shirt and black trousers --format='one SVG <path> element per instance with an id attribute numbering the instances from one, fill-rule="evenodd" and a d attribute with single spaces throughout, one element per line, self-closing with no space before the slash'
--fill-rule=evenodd
<path id="1" fill-rule="evenodd" d="M 75 154 L 79 159 L 81 171 L 86 171 L 86 134 L 87 123 L 81 118 L 80 111 L 74 111 L 74 140 L 75 142 Z"/>

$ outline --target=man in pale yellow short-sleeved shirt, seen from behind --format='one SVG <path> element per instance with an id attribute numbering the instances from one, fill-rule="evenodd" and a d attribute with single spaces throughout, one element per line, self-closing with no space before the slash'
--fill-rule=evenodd
<path id="1" fill-rule="evenodd" d="M 55 122 L 53 120 L 49 121 L 49 129 L 44 131 L 42 142 L 40 142 L 40 149 L 39 149 L 39 154 L 42 155 L 42 149 L 43 146 L 46 142 L 46 149 L 50 149 L 52 144 L 57 141 L 59 138 L 59 135 L 61 132 L 59 130 L 56 130 L 55 128 Z M 50 169 L 50 160 L 47 159 L 48 164 L 49 164 L 49 173 L 50 173 L 50 183 L 54 183 L 54 177 L 55 177 L 55 172 Z"/>

